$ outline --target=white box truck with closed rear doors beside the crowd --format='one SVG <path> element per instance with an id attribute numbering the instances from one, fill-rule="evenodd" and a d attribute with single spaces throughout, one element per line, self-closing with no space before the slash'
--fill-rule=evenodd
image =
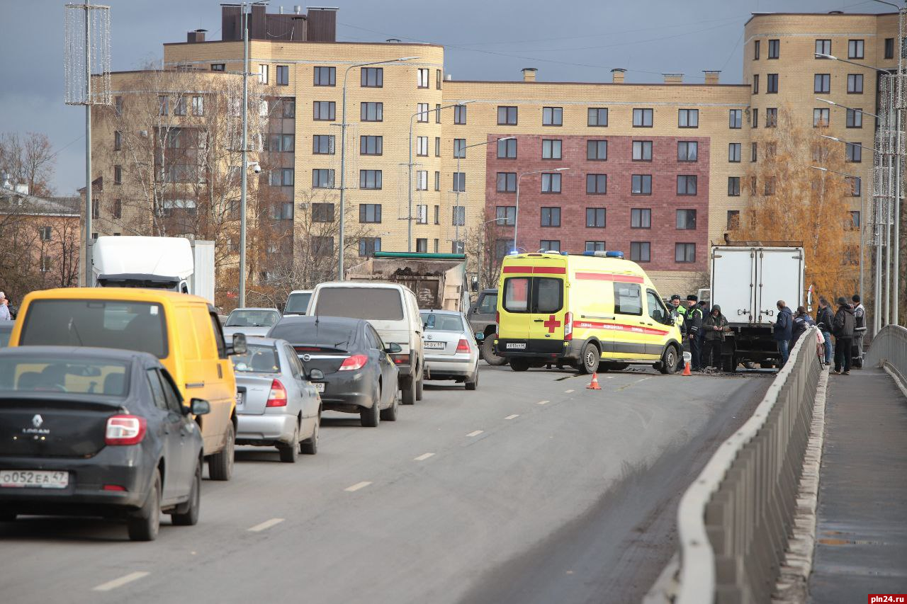
<path id="1" fill-rule="evenodd" d="M 804 304 L 802 245 L 744 241 L 715 246 L 710 258 L 710 302 L 721 307 L 731 327 L 722 348 L 724 369 L 733 371 L 739 363 L 777 365 L 772 329 L 777 301 L 784 300 L 792 311 Z"/>

